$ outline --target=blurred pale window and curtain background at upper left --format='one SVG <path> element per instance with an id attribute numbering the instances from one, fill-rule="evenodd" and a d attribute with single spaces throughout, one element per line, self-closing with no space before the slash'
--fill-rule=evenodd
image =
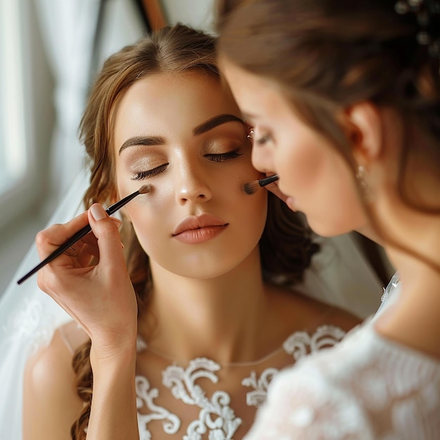
<path id="1" fill-rule="evenodd" d="M 82 169 L 78 125 L 103 60 L 214 0 L 0 0 L 0 296 Z"/>

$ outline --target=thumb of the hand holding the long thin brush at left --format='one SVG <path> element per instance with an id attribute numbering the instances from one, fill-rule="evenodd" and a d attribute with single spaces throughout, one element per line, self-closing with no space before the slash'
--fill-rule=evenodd
<path id="1" fill-rule="evenodd" d="M 98 240 L 99 259 L 104 264 L 124 264 L 119 228 L 99 203 L 89 209 L 89 224 Z"/>

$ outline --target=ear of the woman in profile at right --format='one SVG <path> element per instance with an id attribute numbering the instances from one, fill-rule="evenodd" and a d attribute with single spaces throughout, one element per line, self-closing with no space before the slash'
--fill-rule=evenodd
<path id="1" fill-rule="evenodd" d="M 345 118 L 354 159 L 368 167 L 382 153 L 383 122 L 380 110 L 372 103 L 356 103 L 347 108 Z"/>

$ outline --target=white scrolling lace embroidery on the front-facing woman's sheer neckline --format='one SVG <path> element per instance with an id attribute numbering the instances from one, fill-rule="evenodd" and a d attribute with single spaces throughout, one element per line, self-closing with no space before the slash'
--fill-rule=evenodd
<path id="1" fill-rule="evenodd" d="M 323 347 L 329 347 L 339 342 L 344 337 L 344 330 L 333 325 L 322 325 L 313 335 L 307 332 L 295 332 L 283 344 L 283 348 L 273 351 L 272 355 L 285 351 L 291 354 L 295 361 L 306 354 L 318 351 Z M 147 344 L 138 337 L 138 351 L 142 351 Z M 263 361 L 267 361 L 265 356 Z M 216 374 L 221 370 L 221 365 L 207 359 L 196 358 L 190 361 L 187 368 L 180 365 L 169 365 L 162 373 L 162 384 L 167 387 L 175 399 L 183 401 L 191 406 L 200 408 L 199 417 L 193 420 L 186 429 L 183 440 L 202 440 L 203 434 L 209 434 L 209 440 L 232 440 L 238 427 L 242 425 L 242 419 L 235 416 L 231 408 L 231 397 L 224 391 L 216 391 L 211 399 L 205 395 L 205 391 L 196 382 L 202 378 L 216 384 L 219 377 Z M 258 408 L 266 401 L 268 385 L 278 375 L 277 368 L 266 368 L 261 375 L 252 370 L 241 384 L 250 387 L 252 391 L 246 393 L 247 406 Z M 159 395 L 156 388 L 150 389 L 150 383 L 145 377 L 136 377 L 136 394 L 138 396 L 137 408 L 146 406 L 150 413 L 143 415 L 138 413 L 138 426 L 141 440 L 150 440 L 148 422 L 152 420 L 166 420 L 164 432 L 176 434 L 181 426 L 179 417 L 169 410 L 157 406 L 153 400 Z M 302 418 L 304 419 L 304 415 Z"/>

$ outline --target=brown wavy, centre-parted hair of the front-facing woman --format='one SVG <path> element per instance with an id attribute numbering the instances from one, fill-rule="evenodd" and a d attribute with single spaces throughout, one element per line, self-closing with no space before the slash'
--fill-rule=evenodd
<path id="1" fill-rule="evenodd" d="M 201 71 L 219 80 L 215 39 L 184 25 L 165 27 L 110 56 L 89 93 L 82 122 L 81 139 L 91 167 L 91 183 L 84 195 L 88 208 L 94 202 L 115 198 L 115 167 L 111 147 L 112 110 L 131 84 L 154 73 Z M 247 139 L 245 139 L 247 141 Z M 141 314 L 148 306 L 152 286 L 148 255 L 138 242 L 134 229 L 125 222 L 121 231 L 129 276 L 134 285 Z M 311 231 L 302 219 L 273 194 L 268 193 L 268 216 L 260 240 L 264 276 L 283 276 L 287 283 L 302 280 L 305 268 L 318 250 Z M 73 359 L 77 394 L 85 403 L 72 425 L 72 439 L 85 438 L 91 408 L 92 372 L 90 343 L 80 347 Z"/>

